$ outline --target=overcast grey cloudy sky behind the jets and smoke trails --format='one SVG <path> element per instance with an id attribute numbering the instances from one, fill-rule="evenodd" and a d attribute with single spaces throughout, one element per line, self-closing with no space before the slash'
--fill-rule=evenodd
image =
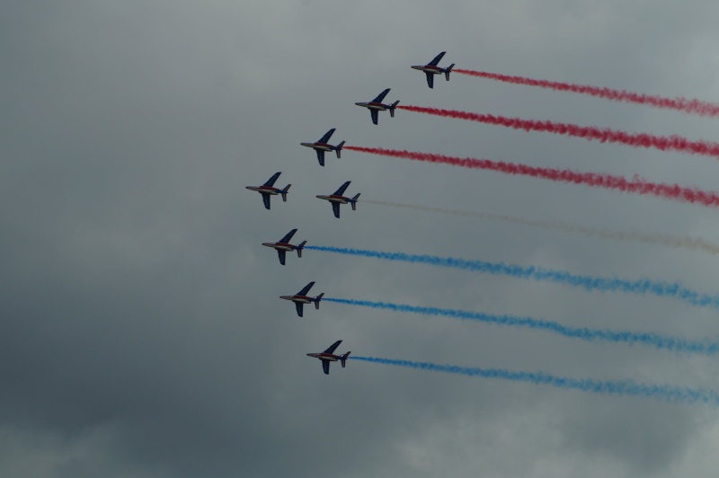
<path id="1" fill-rule="evenodd" d="M 713 476 L 715 408 L 306 352 L 717 389 L 714 358 L 324 302 L 314 294 L 716 340 L 717 311 L 661 297 L 260 243 L 451 255 L 715 293 L 719 258 L 362 199 L 714 242 L 719 213 L 333 143 L 716 189 L 715 159 L 526 133 L 369 101 L 718 140 L 716 119 L 441 66 L 719 101 L 713 2 L 5 2 L 0 7 L 3 476 Z M 244 189 L 281 171 L 287 203 Z M 352 181 L 342 219 L 316 194 Z"/>

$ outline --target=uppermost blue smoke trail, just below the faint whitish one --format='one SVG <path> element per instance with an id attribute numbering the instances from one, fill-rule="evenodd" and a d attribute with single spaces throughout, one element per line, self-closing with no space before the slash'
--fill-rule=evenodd
<path id="1" fill-rule="evenodd" d="M 374 257 L 386 261 L 403 261 L 430 264 L 437 267 L 472 270 L 488 274 L 503 274 L 520 279 L 545 280 L 585 288 L 587 290 L 600 290 L 602 292 L 622 291 L 635 294 L 651 294 L 658 297 L 676 297 L 691 305 L 700 307 L 719 308 L 719 297 L 709 294 L 700 294 L 697 291 L 685 288 L 678 282 L 662 282 L 650 279 L 627 280 L 608 279 L 602 277 L 580 276 L 563 270 L 550 270 L 541 267 L 522 267 L 504 262 L 466 261 L 453 257 L 439 257 L 426 254 L 406 254 L 404 252 L 381 252 L 346 247 L 326 247 L 319 245 L 306 245 L 305 249 L 320 252 L 335 252 L 338 254 Z"/>

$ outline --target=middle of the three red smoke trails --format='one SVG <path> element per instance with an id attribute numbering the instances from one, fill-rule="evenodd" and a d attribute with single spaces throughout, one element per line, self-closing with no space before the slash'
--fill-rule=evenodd
<path id="1" fill-rule="evenodd" d="M 600 129 L 573 125 L 570 123 L 555 123 L 553 121 L 522 120 L 521 118 L 505 118 L 491 114 L 472 113 L 469 111 L 442 110 L 439 108 L 425 108 L 423 106 L 399 105 L 400 110 L 418 113 L 433 114 L 459 120 L 477 121 L 491 125 L 500 125 L 507 128 L 524 129 L 525 131 L 545 131 L 555 135 L 583 137 L 585 139 L 599 139 L 602 143 L 621 143 L 635 147 L 654 147 L 661 151 L 681 151 L 692 155 L 706 155 L 719 157 L 719 144 L 709 141 L 689 141 L 686 137 L 653 136 L 648 133 L 626 133 L 612 129 Z"/>

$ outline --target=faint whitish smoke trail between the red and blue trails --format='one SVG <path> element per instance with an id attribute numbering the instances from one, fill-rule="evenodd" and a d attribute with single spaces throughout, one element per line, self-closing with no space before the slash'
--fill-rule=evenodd
<path id="1" fill-rule="evenodd" d="M 648 234 L 639 232 L 625 232 L 625 231 L 610 231 L 607 229 L 595 229 L 592 227 L 578 226 L 564 223 L 546 222 L 546 221 L 534 221 L 531 219 L 524 219 L 521 217 L 510 217 L 502 214 L 493 214 L 488 212 L 471 212 L 471 211 L 459 211 L 456 209 L 447 208 L 431 208 L 427 206 L 417 206 L 413 204 L 402 204 L 399 202 L 388 202 L 388 201 L 374 201 L 365 199 L 364 204 L 376 204 L 377 206 L 389 206 L 392 208 L 408 208 L 426 212 L 438 212 L 444 214 L 453 214 L 456 216 L 463 217 L 476 217 L 478 219 L 493 219 L 497 221 L 504 221 L 512 224 L 519 224 L 521 226 L 537 227 L 539 229 L 545 229 L 547 231 L 564 231 L 567 233 L 578 233 L 586 235 L 588 237 L 600 237 L 602 239 L 611 239 L 615 241 L 628 241 L 637 243 L 657 244 L 668 247 L 675 247 L 681 249 L 688 249 L 694 252 L 706 252 L 709 254 L 719 254 L 719 244 L 710 243 L 704 239 L 698 237 L 681 237 L 674 235 L 659 235 L 659 234 Z"/>

